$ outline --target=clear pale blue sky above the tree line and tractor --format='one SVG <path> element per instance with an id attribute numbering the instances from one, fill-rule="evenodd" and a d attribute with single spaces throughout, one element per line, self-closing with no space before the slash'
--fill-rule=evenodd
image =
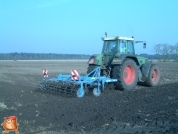
<path id="1" fill-rule="evenodd" d="M 135 37 L 137 53 L 178 43 L 177 0 L 0 0 L 0 53 L 101 53 L 108 36 Z"/>

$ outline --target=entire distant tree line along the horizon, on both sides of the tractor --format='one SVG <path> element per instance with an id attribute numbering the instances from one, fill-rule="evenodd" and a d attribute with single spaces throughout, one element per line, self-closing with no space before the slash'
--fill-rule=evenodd
<path id="1" fill-rule="evenodd" d="M 150 60 L 177 61 L 178 62 L 178 43 L 175 45 L 156 44 L 153 47 L 155 54 L 140 54 Z M 85 54 L 56 54 L 56 53 L 0 53 L 0 60 L 65 60 L 65 59 L 89 59 L 91 55 Z"/>

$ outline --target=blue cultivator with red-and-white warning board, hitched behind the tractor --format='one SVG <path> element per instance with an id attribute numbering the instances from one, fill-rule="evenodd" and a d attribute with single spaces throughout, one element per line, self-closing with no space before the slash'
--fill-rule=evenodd
<path id="1" fill-rule="evenodd" d="M 86 76 L 80 76 L 76 70 L 72 70 L 71 75 L 59 74 L 57 78 L 43 79 L 39 88 L 81 98 L 89 86 L 93 88 L 95 96 L 100 96 L 106 83 L 117 82 L 117 79 L 100 76 L 100 71 L 100 67 L 97 67 Z"/>

